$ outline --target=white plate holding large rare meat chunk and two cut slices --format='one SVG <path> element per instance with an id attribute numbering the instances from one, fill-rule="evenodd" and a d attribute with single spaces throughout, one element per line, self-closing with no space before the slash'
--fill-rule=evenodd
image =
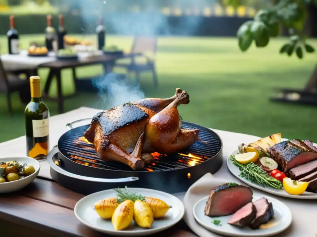
<path id="1" fill-rule="evenodd" d="M 285 204 L 237 183 L 213 188 L 194 205 L 193 214 L 201 226 L 225 236 L 272 236 L 292 222 Z"/>

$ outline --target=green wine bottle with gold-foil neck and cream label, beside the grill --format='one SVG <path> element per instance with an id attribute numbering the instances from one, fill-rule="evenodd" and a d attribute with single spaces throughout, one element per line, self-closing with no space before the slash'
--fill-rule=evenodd
<path id="1" fill-rule="evenodd" d="M 36 160 L 46 159 L 49 153 L 49 109 L 41 99 L 41 79 L 30 77 L 31 101 L 26 106 L 26 155 Z"/>

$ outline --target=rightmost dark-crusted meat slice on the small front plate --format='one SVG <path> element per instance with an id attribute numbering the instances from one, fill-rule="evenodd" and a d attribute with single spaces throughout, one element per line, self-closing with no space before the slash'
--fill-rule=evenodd
<path id="1" fill-rule="evenodd" d="M 253 203 L 256 207 L 256 218 L 250 224 L 252 229 L 257 229 L 261 224 L 267 223 L 273 216 L 272 203 L 268 202 L 268 199 L 262 197 Z"/>

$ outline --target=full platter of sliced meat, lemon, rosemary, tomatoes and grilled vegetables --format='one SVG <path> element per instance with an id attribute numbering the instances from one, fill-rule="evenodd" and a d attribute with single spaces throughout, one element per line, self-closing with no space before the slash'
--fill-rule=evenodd
<path id="1" fill-rule="evenodd" d="M 310 140 L 282 139 L 277 133 L 241 143 L 227 166 L 234 176 L 262 191 L 317 199 L 317 144 Z"/>

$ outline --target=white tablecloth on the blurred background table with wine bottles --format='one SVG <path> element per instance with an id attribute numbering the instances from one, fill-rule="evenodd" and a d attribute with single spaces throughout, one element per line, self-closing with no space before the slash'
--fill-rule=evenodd
<path id="1" fill-rule="evenodd" d="M 3 67 L 19 65 L 21 67 L 38 67 L 40 64 L 50 63 L 56 60 L 55 53 L 49 52 L 45 57 L 30 57 L 26 50 L 20 51 L 20 54 L 2 54 L 0 56 Z"/>

